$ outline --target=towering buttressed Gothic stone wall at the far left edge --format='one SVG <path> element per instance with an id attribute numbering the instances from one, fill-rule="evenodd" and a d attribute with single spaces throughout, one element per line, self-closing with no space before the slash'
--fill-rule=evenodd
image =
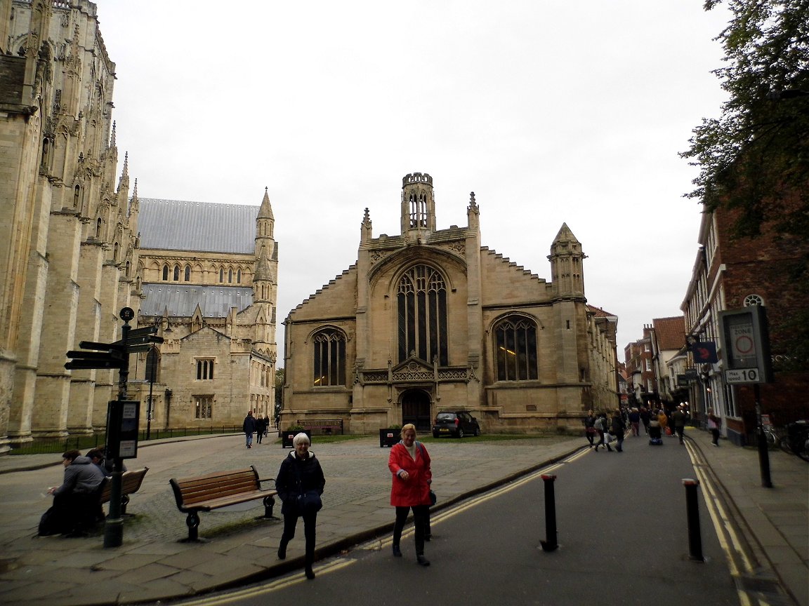
<path id="1" fill-rule="evenodd" d="M 117 338 L 137 251 L 95 4 L 0 0 L 0 32 L 4 451 L 104 423 L 112 372 L 70 372 L 65 352 Z"/>

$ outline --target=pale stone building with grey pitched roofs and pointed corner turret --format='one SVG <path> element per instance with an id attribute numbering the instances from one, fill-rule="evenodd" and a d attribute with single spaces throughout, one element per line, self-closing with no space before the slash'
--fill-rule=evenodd
<path id="1" fill-rule="evenodd" d="M 138 326 L 156 326 L 165 340 L 133 356 L 129 397 L 159 429 L 240 425 L 248 410 L 273 418 L 278 249 L 268 193 L 260 207 L 138 207 L 149 229 Z"/>

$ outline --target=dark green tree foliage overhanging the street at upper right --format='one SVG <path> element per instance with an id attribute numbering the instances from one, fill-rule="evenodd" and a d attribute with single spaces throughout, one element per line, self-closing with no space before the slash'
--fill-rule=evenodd
<path id="1" fill-rule="evenodd" d="M 730 99 L 680 154 L 700 167 L 686 196 L 735 208 L 737 236 L 809 238 L 809 0 L 705 0 L 705 10 L 723 3 L 732 18 L 714 74 Z"/>

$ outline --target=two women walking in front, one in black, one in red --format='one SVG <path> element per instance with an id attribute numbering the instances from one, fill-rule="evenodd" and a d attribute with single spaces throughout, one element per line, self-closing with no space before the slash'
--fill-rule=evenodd
<path id="1" fill-rule="evenodd" d="M 430 454 L 424 444 L 416 440 L 416 427 L 408 423 L 402 427 L 401 440 L 394 444 L 388 457 L 388 469 L 392 474 L 391 505 L 396 508 L 393 527 L 392 553 L 402 556 L 401 535 L 410 511 L 413 511 L 416 541 L 416 562 L 430 566 L 425 557 L 424 545 L 430 541 Z M 311 440 L 301 432 L 292 439 L 293 451 L 285 457 L 278 469 L 275 488 L 282 501 L 284 531 L 278 545 L 278 558 L 286 559 L 286 548 L 295 536 L 299 518 L 303 518 L 305 550 L 304 572 L 307 579 L 315 579 L 312 565 L 315 562 L 317 512 L 323 507 L 320 495 L 326 485 L 323 469 L 315 453 L 309 450 Z"/>

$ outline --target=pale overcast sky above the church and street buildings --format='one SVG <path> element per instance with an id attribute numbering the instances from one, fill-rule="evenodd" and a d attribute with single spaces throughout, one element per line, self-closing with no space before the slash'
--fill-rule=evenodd
<path id="1" fill-rule="evenodd" d="M 484 246 L 540 278 L 567 223 L 619 360 L 680 315 L 697 253 L 677 154 L 720 114 L 728 20 L 702 3 L 98 2 L 138 195 L 257 205 L 269 187 L 279 354 L 290 310 L 356 261 L 364 208 L 399 234 L 401 178 L 426 172 L 438 229 L 467 224 L 474 191 Z"/>

